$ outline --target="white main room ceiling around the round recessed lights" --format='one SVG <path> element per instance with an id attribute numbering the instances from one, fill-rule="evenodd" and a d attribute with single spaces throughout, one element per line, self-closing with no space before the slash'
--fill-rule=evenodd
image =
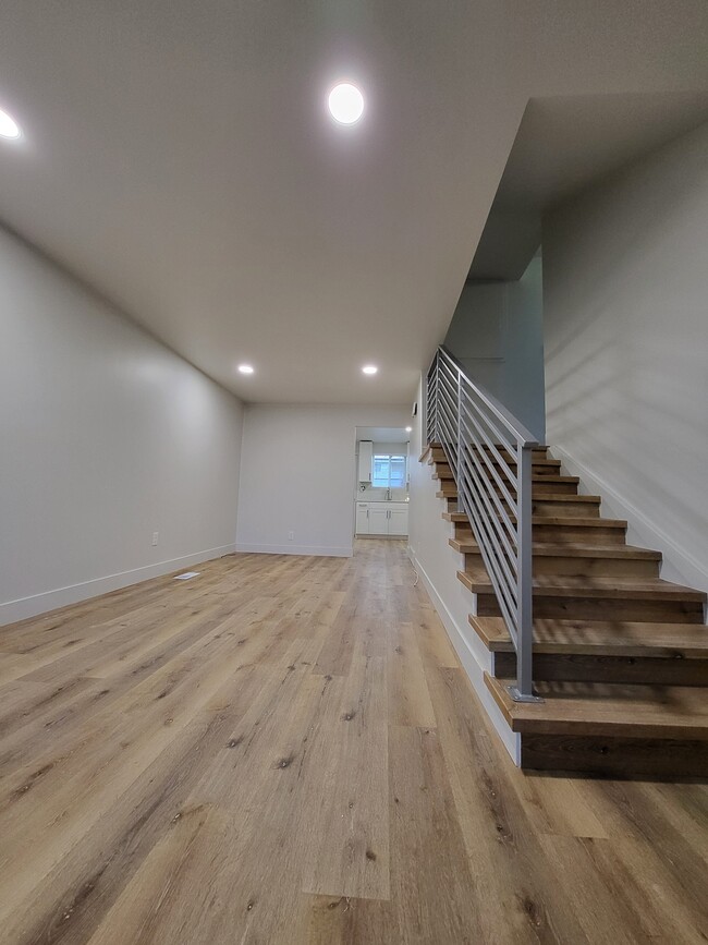
<path id="1" fill-rule="evenodd" d="M 0 219 L 251 401 L 412 399 L 529 97 L 708 88 L 704 0 L 1 17 L 0 107 L 25 138 L 0 145 Z M 341 77 L 367 98 L 353 128 L 325 112 Z"/>

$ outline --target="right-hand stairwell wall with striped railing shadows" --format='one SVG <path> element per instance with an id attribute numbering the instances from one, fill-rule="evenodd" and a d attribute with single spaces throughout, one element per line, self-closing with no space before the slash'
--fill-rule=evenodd
<path id="1" fill-rule="evenodd" d="M 708 125 L 544 222 L 548 441 L 708 590 Z"/>

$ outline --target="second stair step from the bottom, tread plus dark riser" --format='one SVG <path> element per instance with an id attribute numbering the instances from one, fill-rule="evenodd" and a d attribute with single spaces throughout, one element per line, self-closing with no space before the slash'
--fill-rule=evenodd
<path id="1" fill-rule="evenodd" d="M 501 617 L 469 616 L 493 654 L 493 675 L 516 675 Z M 708 628 L 697 623 L 535 620 L 534 679 L 708 687 Z"/>

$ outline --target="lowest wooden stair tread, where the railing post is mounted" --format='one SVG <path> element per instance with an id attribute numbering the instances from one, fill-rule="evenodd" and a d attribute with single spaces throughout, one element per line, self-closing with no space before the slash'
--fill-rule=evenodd
<path id="1" fill-rule="evenodd" d="M 506 689 L 511 682 L 485 673 L 485 683 L 512 731 L 708 741 L 704 687 L 538 682 L 545 701 L 517 703 Z"/>

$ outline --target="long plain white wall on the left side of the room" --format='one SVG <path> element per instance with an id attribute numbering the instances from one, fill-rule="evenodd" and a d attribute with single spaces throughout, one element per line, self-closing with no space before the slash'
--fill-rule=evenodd
<path id="1" fill-rule="evenodd" d="M 0 326 L 0 622 L 233 549 L 240 401 L 4 231 Z"/>

